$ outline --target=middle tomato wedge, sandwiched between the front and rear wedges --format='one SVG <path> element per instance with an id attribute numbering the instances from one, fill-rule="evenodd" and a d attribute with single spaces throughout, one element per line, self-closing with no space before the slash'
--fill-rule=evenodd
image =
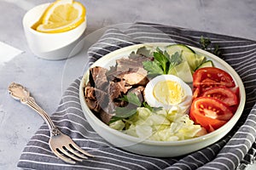
<path id="1" fill-rule="evenodd" d="M 237 96 L 232 90 L 230 90 L 230 88 L 207 88 L 207 90 L 203 94 L 201 94 L 201 96 L 221 100 L 222 102 L 224 102 L 224 104 L 229 106 L 238 104 Z"/>

